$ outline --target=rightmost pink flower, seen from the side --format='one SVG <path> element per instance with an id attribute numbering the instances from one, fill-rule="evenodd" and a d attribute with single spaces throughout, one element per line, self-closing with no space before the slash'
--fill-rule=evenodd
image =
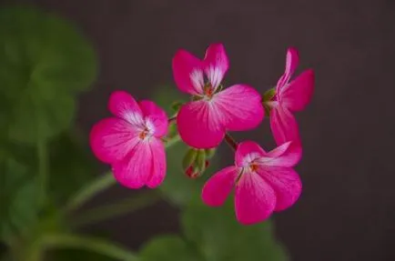
<path id="1" fill-rule="evenodd" d="M 285 73 L 279 78 L 276 95 L 268 102 L 270 110 L 270 127 L 278 145 L 287 141 L 300 142 L 299 128 L 291 112 L 298 112 L 309 104 L 314 89 L 314 72 L 304 71 L 295 80 L 289 82 L 299 64 L 298 51 L 289 48 Z"/>

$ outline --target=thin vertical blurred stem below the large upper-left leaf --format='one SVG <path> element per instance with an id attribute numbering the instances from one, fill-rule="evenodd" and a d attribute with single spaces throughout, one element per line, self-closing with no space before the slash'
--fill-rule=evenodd
<path id="1" fill-rule="evenodd" d="M 38 157 L 38 178 L 40 182 L 40 196 L 39 200 L 42 205 L 46 202 L 46 189 L 48 179 L 48 161 L 47 161 L 46 142 L 40 140 L 37 143 L 37 157 Z"/>

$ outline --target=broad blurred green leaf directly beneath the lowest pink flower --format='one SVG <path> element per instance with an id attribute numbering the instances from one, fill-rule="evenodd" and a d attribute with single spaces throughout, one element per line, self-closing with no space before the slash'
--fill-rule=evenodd
<path id="1" fill-rule="evenodd" d="M 273 236 L 270 222 L 255 226 L 238 224 L 230 201 L 219 208 L 204 206 L 200 198 L 191 201 L 181 220 L 187 238 L 207 260 L 288 260 Z"/>

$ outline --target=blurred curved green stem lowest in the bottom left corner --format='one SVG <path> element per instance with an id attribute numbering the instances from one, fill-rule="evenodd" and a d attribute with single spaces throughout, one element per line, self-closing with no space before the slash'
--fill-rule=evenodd
<path id="1" fill-rule="evenodd" d="M 134 253 L 127 249 L 116 246 L 112 242 L 92 237 L 76 235 L 47 235 L 43 236 L 40 243 L 44 249 L 54 248 L 76 248 L 85 249 L 98 254 L 109 256 L 117 260 L 134 261 L 138 260 Z"/>

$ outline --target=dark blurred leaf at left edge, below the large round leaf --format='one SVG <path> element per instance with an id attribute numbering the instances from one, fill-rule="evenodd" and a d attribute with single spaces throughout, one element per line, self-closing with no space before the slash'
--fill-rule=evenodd
<path id="1" fill-rule="evenodd" d="M 0 159 L 0 237 L 25 234 L 38 219 L 39 186 L 31 169 L 11 157 Z"/>

